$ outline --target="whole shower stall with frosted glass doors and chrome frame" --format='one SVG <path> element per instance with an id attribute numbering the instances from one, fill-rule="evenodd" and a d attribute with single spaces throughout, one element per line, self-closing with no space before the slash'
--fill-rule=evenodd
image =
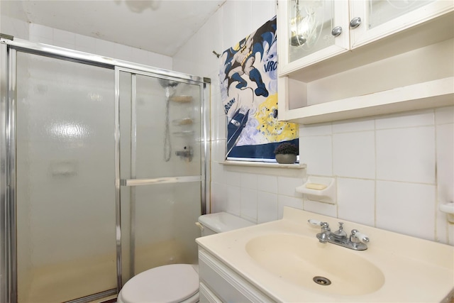
<path id="1" fill-rule="evenodd" d="M 0 301 L 91 302 L 196 263 L 209 79 L 1 38 Z"/>

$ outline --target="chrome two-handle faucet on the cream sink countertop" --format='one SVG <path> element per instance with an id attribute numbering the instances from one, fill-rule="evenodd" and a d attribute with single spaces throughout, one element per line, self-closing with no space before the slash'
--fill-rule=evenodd
<path id="1" fill-rule="evenodd" d="M 367 249 L 366 243 L 369 242 L 369 238 L 356 229 L 353 229 L 350 236 L 348 236 L 343 230 L 343 222 L 339 222 L 339 229 L 337 231 L 331 231 L 327 222 L 308 221 L 312 225 L 321 226 L 321 233 L 317 233 L 316 235 L 320 243 L 333 243 L 353 250 Z M 315 222 L 316 224 L 314 224 Z"/>

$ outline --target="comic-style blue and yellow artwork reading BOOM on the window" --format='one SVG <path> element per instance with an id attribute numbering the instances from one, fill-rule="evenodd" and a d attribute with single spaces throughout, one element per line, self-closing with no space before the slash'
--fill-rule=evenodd
<path id="1" fill-rule="evenodd" d="M 277 120 L 276 17 L 221 57 L 221 98 L 227 116 L 227 158 L 274 160 L 282 142 L 298 146 L 298 126 Z"/>

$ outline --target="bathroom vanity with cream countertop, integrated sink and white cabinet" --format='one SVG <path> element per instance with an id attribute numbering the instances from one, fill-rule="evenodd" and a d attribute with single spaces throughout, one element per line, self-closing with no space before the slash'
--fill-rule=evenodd
<path id="1" fill-rule="evenodd" d="M 197 238 L 200 302 L 450 302 L 454 247 L 344 221 L 354 250 L 316 237 L 338 219 L 284 208 L 281 220 Z M 336 228 L 333 228 L 333 230 Z"/>

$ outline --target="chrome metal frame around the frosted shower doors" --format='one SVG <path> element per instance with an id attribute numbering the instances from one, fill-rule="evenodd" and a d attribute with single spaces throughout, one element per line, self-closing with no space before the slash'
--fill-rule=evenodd
<path id="1" fill-rule="evenodd" d="M 148 65 L 117 60 L 111 57 L 83 53 L 42 43 L 33 43 L 6 35 L 0 35 L 0 302 L 17 302 L 17 241 L 16 241 L 16 64 L 17 52 L 43 55 L 60 60 L 69 60 L 115 70 L 115 208 L 116 208 L 116 284 L 114 290 L 74 299 L 72 303 L 90 302 L 111 294 L 118 294 L 122 285 L 121 260 L 121 186 L 140 185 L 145 180 L 120 180 L 120 113 L 119 113 L 119 72 L 137 72 L 140 75 L 174 79 L 201 87 L 201 214 L 209 206 L 209 123 L 211 79 L 173 72 Z M 186 177 L 160 178 L 145 182 L 192 182 Z M 193 180 L 194 181 L 194 180 Z M 114 226 L 113 226 L 114 228 Z"/>

